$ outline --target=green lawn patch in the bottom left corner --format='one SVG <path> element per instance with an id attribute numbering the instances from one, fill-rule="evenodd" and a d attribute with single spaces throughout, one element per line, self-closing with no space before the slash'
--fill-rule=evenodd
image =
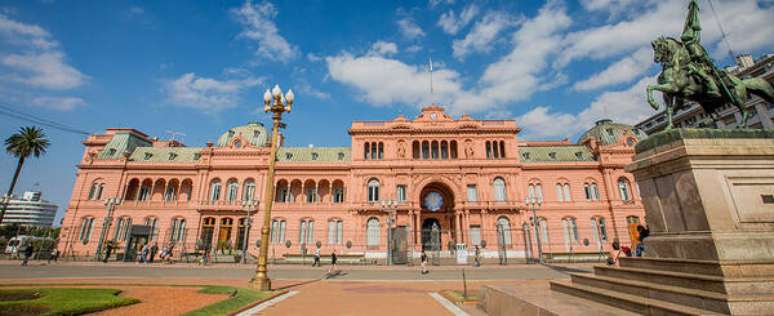
<path id="1" fill-rule="evenodd" d="M 80 315 L 139 302 L 115 289 L 0 289 L 0 315 Z"/>

